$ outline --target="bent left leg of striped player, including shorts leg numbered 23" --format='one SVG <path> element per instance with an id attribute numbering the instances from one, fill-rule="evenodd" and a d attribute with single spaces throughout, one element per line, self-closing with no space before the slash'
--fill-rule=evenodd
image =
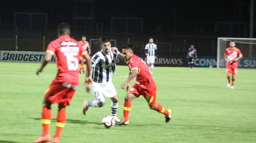
<path id="1" fill-rule="evenodd" d="M 82 113 L 84 115 L 86 115 L 89 107 L 102 107 L 105 105 L 105 99 L 102 94 L 104 90 L 105 89 L 102 88 L 102 85 L 100 85 L 98 83 L 92 84 L 92 93 L 96 100 L 93 100 L 93 101 L 84 100 L 84 105 L 82 107 Z"/>

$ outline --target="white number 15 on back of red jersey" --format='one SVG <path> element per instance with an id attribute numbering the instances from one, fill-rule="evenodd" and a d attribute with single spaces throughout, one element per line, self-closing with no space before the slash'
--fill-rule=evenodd
<path id="1" fill-rule="evenodd" d="M 74 56 L 77 56 L 77 52 L 66 52 L 64 55 L 67 58 L 67 64 L 68 64 L 68 70 L 77 70 L 78 69 L 78 59 L 75 58 Z"/>

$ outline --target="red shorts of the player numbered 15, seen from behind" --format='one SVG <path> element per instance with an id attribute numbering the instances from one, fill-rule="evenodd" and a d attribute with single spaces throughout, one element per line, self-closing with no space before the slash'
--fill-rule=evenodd
<path id="1" fill-rule="evenodd" d="M 78 83 L 58 82 L 54 79 L 46 90 L 44 98 L 51 103 L 59 103 L 63 106 L 70 105 L 69 102 L 77 87 Z"/>

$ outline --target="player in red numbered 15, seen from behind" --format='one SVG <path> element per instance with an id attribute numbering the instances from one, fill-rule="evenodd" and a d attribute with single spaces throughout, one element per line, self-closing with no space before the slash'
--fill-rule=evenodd
<path id="1" fill-rule="evenodd" d="M 58 143 L 60 134 L 66 121 L 66 109 L 69 105 L 79 83 L 79 58 L 84 57 L 88 64 L 86 72 L 86 89 L 89 91 L 92 84 L 91 60 L 87 52 L 82 48 L 79 42 L 70 38 L 70 27 L 66 23 L 60 23 L 58 26 L 58 39 L 50 42 L 44 60 L 42 61 L 41 68 L 36 71 L 39 75 L 44 67 L 51 60 L 52 56 L 56 55 L 56 64 L 58 73 L 48 89 L 44 94 L 44 101 L 42 107 L 42 127 L 43 133 L 38 140 L 34 143 L 46 143 L 51 140 L 49 135 L 49 128 L 52 118 L 51 104 L 58 103 L 58 115 L 56 121 L 56 133 L 52 143 Z"/>

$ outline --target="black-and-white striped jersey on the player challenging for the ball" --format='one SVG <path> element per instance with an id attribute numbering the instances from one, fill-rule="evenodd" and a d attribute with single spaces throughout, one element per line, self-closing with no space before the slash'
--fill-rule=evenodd
<path id="1" fill-rule="evenodd" d="M 112 80 L 116 69 L 116 54 L 112 49 L 108 54 L 102 50 L 92 56 L 92 81 L 96 83 L 107 83 Z"/>

